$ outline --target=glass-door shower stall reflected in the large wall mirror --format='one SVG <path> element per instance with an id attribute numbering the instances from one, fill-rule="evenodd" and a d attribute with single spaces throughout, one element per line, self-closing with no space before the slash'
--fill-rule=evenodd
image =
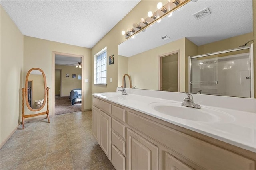
<path id="1" fill-rule="evenodd" d="M 253 98 L 253 48 L 189 57 L 190 93 Z"/>

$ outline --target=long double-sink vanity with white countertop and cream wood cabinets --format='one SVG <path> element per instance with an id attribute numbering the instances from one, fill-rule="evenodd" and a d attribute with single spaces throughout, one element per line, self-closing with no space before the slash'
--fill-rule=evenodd
<path id="1" fill-rule="evenodd" d="M 93 94 L 92 109 L 93 135 L 116 169 L 256 168 L 255 99 L 193 94 L 195 109 L 181 106 L 183 93 L 118 90 Z"/>

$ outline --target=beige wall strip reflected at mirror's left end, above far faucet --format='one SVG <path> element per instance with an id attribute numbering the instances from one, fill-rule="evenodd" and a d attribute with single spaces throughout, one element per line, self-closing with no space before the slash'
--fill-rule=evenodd
<path id="1" fill-rule="evenodd" d="M 124 74 L 128 74 L 128 57 L 118 56 L 118 87 L 123 85 L 122 79 Z M 133 84 L 132 84 L 133 86 Z"/>

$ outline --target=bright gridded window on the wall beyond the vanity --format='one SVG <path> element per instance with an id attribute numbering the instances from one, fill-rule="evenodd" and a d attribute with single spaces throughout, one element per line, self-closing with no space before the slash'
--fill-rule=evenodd
<path id="1" fill-rule="evenodd" d="M 107 48 L 94 55 L 94 84 L 107 84 Z"/>

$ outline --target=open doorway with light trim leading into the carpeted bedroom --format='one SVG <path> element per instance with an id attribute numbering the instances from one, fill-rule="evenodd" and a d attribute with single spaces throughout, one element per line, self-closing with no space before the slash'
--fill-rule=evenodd
<path id="1" fill-rule="evenodd" d="M 84 56 L 52 52 L 52 116 L 83 111 L 82 59 Z M 81 66 L 79 66 L 79 64 Z M 70 99 L 72 90 L 80 96 Z M 78 92 L 76 92 L 78 94 Z M 74 94 L 72 94 L 74 96 Z"/>

